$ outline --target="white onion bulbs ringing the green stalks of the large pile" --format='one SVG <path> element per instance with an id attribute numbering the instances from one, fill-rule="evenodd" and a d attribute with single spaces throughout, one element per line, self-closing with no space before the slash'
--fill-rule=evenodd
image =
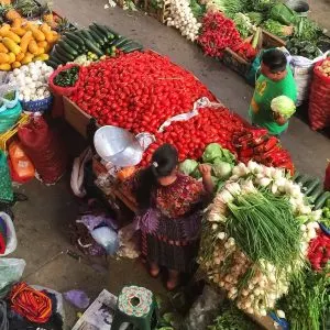
<path id="1" fill-rule="evenodd" d="M 288 196 L 293 215 L 301 223 L 301 254 L 294 262 L 295 270 L 289 266 L 279 270 L 264 260 L 252 263 L 237 246 L 234 239 L 226 232 L 227 204 L 238 195 L 257 193 L 257 187 L 267 187 L 274 195 Z M 199 256 L 201 267 L 210 280 L 228 292 L 228 297 L 235 300 L 240 309 L 256 316 L 265 316 L 267 310 L 275 307 L 276 300 L 287 293 L 289 275 L 302 267 L 308 243 L 317 235 L 319 226 L 316 221 L 320 219 L 320 211 L 311 210 L 301 187 L 287 178 L 283 169 L 266 167 L 251 161 L 248 166 L 240 163 L 233 168 L 231 178 L 206 212 L 209 234 L 213 235 L 216 241 L 212 244 L 211 256 Z M 224 263 L 227 266 L 223 268 Z M 242 276 L 251 270 L 253 275 L 248 277 L 248 282 L 242 286 L 240 283 Z"/>

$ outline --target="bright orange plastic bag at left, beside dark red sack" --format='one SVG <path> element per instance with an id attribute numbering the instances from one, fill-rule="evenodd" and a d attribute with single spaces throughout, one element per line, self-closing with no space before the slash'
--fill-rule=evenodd
<path id="1" fill-rule="evenodd" d="M 12 178 L 15 182 L 26 183 L 34 177 L 34 166 L 19 142 L 13 141 L 9 145 L 9 157 L 12 166 Z"/>

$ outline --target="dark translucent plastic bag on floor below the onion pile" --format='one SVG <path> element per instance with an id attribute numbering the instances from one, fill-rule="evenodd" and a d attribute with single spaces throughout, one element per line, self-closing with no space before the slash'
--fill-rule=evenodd
<path id="1" fill-rule="evenodd" d="M 194 302 L 185 320 L 185 330 L 206 330 L 213 322 L 226 294 L 219 294 L 209 285 Z"/>

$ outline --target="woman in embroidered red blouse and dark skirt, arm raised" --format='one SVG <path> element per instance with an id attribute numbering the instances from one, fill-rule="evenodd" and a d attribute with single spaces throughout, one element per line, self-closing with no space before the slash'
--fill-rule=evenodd
<path id="1" fill-rule="evenodd" d="M 202 182 L 177 172 L 178 153 L 163 144 L 152 164 L 134 178 L 133 193 L 140 207 L 142 253 L 156 277 L 160 266 L 168 270 L 167 288 L 179 284 L 180 273 L 195 265 L 201 226 L 202 201 L 213 190 L 211 168 L 200 165 Z"/>

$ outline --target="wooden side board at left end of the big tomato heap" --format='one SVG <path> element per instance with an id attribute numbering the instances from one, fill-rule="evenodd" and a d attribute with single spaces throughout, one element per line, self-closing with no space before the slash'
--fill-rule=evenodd
<path id="1" fill-rule="evenodd" d="M 64 119 L 84 138 L 87 138 L 87 125 L 91 119 L 89 114 L 84 112 L 76 103 L 72 102 L 67 97 L 63 98 Z"/>

